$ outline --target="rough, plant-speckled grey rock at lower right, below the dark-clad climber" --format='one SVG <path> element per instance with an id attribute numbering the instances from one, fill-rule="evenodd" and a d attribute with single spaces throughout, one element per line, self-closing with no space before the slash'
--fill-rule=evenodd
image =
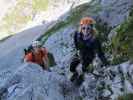
<path id="1" fill-rule="evenodd" d="M 96 71 L 103 72 L 99 78 L 87 75 L 82 86 L 86 93 L 85 98 L 89 100 L 95 100 L 94 98 L 97 98 L 97 100 L 115 100 L 118 95 L 122 95 L 124 92 L 132 93 L 132 68 L 133 65 L 126 62 L 121 65 L 110 66 L 105 70 L 102 69 L 102 71 L 97 69 Z"/>

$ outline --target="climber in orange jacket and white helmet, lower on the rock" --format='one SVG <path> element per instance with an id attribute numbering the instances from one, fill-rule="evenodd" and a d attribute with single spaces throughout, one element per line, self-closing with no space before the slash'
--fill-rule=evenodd
<path id="1" fill-rule="evenodd" d="M 42 66 L 43 69 L 48 69 L 48 51 L 45 47 L 41 47 L 39 41 L 32 42 L 32 48 L 26 53 L 24 57 L 25 62 L 33 62 Z"/>

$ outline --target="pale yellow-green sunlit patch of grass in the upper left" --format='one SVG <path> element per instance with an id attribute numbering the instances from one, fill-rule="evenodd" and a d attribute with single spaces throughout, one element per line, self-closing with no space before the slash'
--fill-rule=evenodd
<path id="1" fill-rule="evenodd" d="M 48 0 L 18 0 L 16 5 L 3 17 L 0 29 L 4 34 L 12 35 L 23 28 L 34 17 L 35 12 L 44 11 Z"/>

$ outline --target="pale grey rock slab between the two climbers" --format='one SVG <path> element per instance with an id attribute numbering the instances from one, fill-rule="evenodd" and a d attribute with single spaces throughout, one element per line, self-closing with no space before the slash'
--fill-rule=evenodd
<path id="1" fill-rule="evenodd" d="M 73 38 L 72 33 L 75 32 L 75 27 L 69 26 L 68 28 L 61 29 L 46 41 L 45 46 L 48 51 L 54 55 L 55 61 L 59 66 L 65 66 L 71 58 L 73 52 Z M 63 67 L 62 66 L 62 67 Z"/>

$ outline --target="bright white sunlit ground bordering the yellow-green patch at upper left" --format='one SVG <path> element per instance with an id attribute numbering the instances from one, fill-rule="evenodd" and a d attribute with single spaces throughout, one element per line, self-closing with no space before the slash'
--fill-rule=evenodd
<path id="1" fill-rule="evenodd" d="M 48 23 L 48 22 L 56 21 L 61 15 L 69 11 L 73 1 L 79 2 L 79 3 L 76 3 L 79 5 L 85 2 L 90 2 L 91 0 L 70 0 L 71 1 L 70 4 L 63 3 L 63 5 L 62 5 L 62 2 L 59 2 L 59 1 L 55 2 L 54 0 L 53 1 L 49 0 L 49 2 L 58 3 L 58 6 L 54 7 L 54 5 L 49 5 L 46 11 L 38 12 L 33 20 L 27 21 L 24 26 L 22 24 L 22 27 L 20 29 L 16 27 L 20 26 L 21 23 L 17 23 L 17 26 L 14 26 L 14 24 L 7 25 L 6 21 L 3 20 L 5 15 L 10 13 L 10 11 L 15 7 L 15 5 L 17 4 L 17 1 L 19 0 L 0 0 L 0 9 L 2 9 L 2 11 L 0 12 L 0 22 L 2 23 L 1 26 L 4 25 L 4 27 L 0 28 L 0 39 L 9 36 L 10 31 L 7 31 L 7 30 L 11 30 L 12 33 L 17 33 L 27 28 L 31 28 L 33 26 L 42 24 L 42 22 Z M 5 25 L 9 26 L 8 27 L 9 29 L 5 28 Z"/>

